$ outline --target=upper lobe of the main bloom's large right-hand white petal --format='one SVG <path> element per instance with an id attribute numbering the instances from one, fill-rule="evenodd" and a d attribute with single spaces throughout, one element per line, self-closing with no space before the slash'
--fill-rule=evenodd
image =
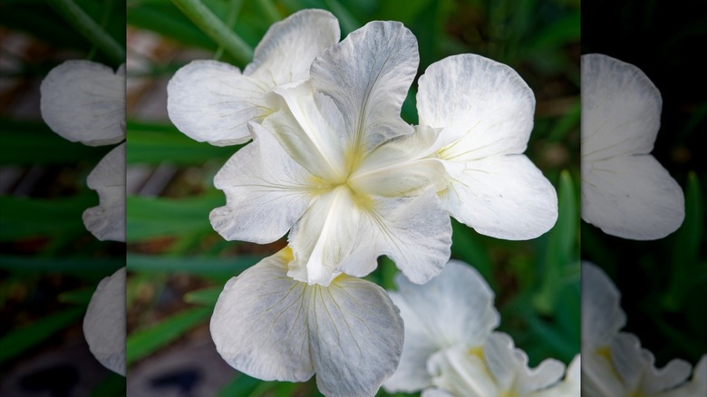
<path id="1" fill-rule="evenodd" d="M 456 142 L 445 160 L 477 160 L 525 151 L 533 129 L 535 97 L 518 73 L 475 54 L 432 63 L 417 94 L 420 124 L 443 128 Z"/>

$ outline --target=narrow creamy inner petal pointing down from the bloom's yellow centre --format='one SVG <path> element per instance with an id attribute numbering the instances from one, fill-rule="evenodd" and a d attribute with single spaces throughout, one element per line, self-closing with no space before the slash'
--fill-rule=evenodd
<path id="1" fill-rule="evenodd" d="M 288 276 L 328 286 L 340 274 L 338 266 L 344 258 L 353 255 L 360 218 L 348 188 L 342 186 L 320 195 L 290 233 L 295 261 Z"/>

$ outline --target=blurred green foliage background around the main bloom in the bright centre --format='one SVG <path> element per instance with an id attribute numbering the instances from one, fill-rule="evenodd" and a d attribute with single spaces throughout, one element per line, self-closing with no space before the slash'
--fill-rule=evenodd
<path id="1" fill-rule="evenodd" d="M 401 21 L 417 37 L 421 65 L 479 53 L 513 67 L 538 105 L 528 157 L 557 189 L 555 228 L 532 241 L 480 236 L 454 223 L 452 257 L 479 269 L 497 295 L 500 330 L 535 366 L 579 352 L 579 1 L 206 0 L 252 48 L 267 28 L 303 8 L 339 19 L 342 37 L 372 20 Z M 208 213 L 225 203 L 213 176 L 238 147 L 190 140 L 167 116 L 169 78 L 194 59 L 232 58 L 170 2 L 129 0 L 128 267 L 131 395 L 318 395 L 314 380 L 260 382 L 230 368 L 208 333 L 226 281 L 285 247 L 223 240 Z M 413 83 L 402 116 L 417 122 Z M 392 289 L 386 258 L 372 281 Z M 383 391 L 379 395 L 386 395 Z"/>

